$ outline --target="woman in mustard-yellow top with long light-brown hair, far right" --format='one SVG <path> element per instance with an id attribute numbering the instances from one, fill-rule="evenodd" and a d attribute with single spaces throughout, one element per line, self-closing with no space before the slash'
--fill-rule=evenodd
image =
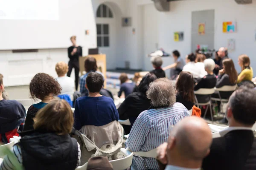
<path id="1" fill-rule="evenodd" d="M 243 54 L 238 57 L 238 64 L 241 67 L 241 73 L 238 76 L 237 83 L 243 81 L 252 81 L 253 79 L 253 69 L 250 67 L 250 58 Z"/>

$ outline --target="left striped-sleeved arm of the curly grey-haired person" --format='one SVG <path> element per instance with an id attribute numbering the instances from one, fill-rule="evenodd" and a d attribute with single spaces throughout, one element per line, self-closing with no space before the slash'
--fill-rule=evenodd
<path id="1" fill-rule="evenodd" d="M 141 118 L 138 117 L 131 128 L 131 132 L 126 142 L 128 147 L 133 152 L 139 152 L 145 143 L 145 138 L 148 135 L 146 124 L 141 122 Z"/>

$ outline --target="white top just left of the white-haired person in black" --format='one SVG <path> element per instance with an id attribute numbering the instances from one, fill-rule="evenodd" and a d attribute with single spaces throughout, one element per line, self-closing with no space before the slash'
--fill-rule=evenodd
<path id="1" fill-rule="evenodd" d="M 198 62 L 199 63 L 199 62 Z M 182 71 L 187 71 L 191 74 L 193 74 L 194 78 L 202 78 L 205 75 L 207 75 L 207 72 L 202 68 L 202 65 L 195 62 L 188 62 L 184 67 Z M 202 62 L 201 62 L 202 63 Z M 204 63 L 202 63 L 204 64 Z"/>

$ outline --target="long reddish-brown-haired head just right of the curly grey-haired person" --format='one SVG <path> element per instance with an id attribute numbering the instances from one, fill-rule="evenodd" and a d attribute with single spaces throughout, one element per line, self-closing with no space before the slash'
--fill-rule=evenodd
<path id="1" fill-rule="evenodd" d="M 194 77 L 191 73 L 182 71 L 176 82 L 177 93 L 183 95 L 183 99 L 189 102 L 195 102 L 194 96 Z"/>

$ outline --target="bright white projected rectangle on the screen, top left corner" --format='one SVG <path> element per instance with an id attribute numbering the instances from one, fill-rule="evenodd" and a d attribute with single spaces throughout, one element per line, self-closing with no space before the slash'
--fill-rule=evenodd
<path id="1" fill-rule="evenodd" d="M 58 0 L 0 0 L 0 20 L 58 20 Z"/>

